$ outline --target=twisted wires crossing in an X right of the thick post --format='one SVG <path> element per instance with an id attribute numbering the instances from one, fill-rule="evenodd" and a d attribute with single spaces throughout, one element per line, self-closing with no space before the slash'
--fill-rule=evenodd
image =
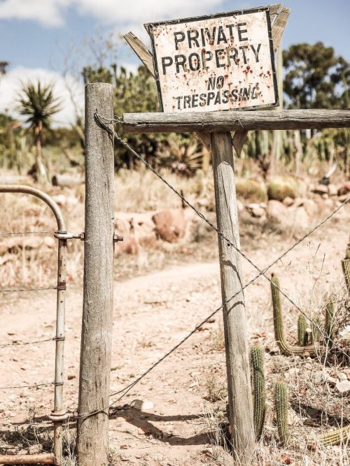
<path id="1" fill-rule="evenodd" d="M 326 221 L 328 221 L 331 217 L 333 217 L 333 215 L 335 215 L 347 202 L 349 202 L 350 200 L 350 196 L 348 198 L 346 198 L 346 200 L 341 204 L 339 205 L 333 212 L 331 212 L 328 217 L 325 217 L 325 219 L 323 219 L 321 222 L 319 222 L 316 226 L 314 226 L 314 228 L 312 228 L 308 233 L 306 233 L 304 236 L 302 236 L 302 238 L 300 238 L 299 240 L 297 240 L 297 242 L 295 242 L 293 245 L 291 245 L 285 252 L 283 252 L 283 254 L 281 254 L 277 259 L 275 259 L 270 265 L 268 265 L 265 269 L 263 270 L 260 270 L 260 268 L 258 268 L 257 265 L 255 265 L 250 259 L 248 259 L 248 257 L 245 256 L 244 253 L 242 253 L 240 251 L 239 248 L 235 247 L 235 245 L 232 244 L 232 242 L 230 240 L 228 240 L 228 238 L 225 237 L 225 235 L 223 235 L 223 233 L 221 233 L 221 231 L 218 230 L 218 228 L 216 226 L 214 226 L 214 224 L 211 224 L 211 222 L 204 216 L 204 214 L 202 214 L 202 212 L 200 212 L 199 210 L 197 210 L 192 204 L 190 204 L 186 198 L 184 198 L 182 196 L 182 194 L 177 191 L 174 187 L 172 187 L 171 184 L 169 184 L 169 182 L 167 182 L 167 180 L 165 180 L 165 178 L 163 178 L 161 175 L 159 175 L 153 167 L 151 167 L 147 162 L 146 160 L 143 159 L 143 157 L 141 157 L 139 154 L 137 154 L 137 152 L 135 152 L 132 147 L 130 147 L 130 145 L 128 145 L 126 143 L 125 140 L 123 140 L 122 138 L 120 138 L 120 136 L 118 136 L 118 133 L 116 133 L 116 131 L 113 131 L 112 129 L 110 129 L 108 126 L 106 126 L 106 124 L 104 124 L 104 121 L 105 120 L 106 122 L 108 122 L 109 124 L 116 124 L 118 122 L 120 122 L 120 118 L 118 119 L 106 119 L 104 117 L 102 117 L 101 115 L 99 115 L 99 113 L 96 112 L 94 113 L 94 117 L 97 119 L 97 121 L 99 122 L 99 124 L 101 124 L 104 129 L 106 129 L 106 131 L 108 131 L 110 133 L 111 136 L 113 136 L 114 138 L 116 138 L 120 143 L 122 143 L 123 145 L 125 145 L 125 147 L 127 147 L 128 150 L 130 150 L 132 152 L 132 154 L 134 154 L 135 156 L 137 156 L 137 158 L 139 160 L 141 160 L 144 165 L 149 168 L 157 177 L 160 178 L 160 180 L 162 180 L 162 182 L 165 182 L 165 184 L 167 184 L 167 186 L 172 189 L 172 191 L 174 191 L 175 194 L 177 194 L 177 196 L 179 196 L 181 198 L 181 200 L 186 203 L 186 205 L 188 205 L 191 209 L 193 209 L 197 215 L 202 218 L 204 221 L 207 222 L 207 224 L 209 224 L 209 226 L 211 226 L 211 228 L 214 228 L 214 230 L 219 234 L 221 235 L 221 237 L 223 239 L 225 239 L 226 241 L 228 241 L 228 243 L 230 245 L 232 245 L 232 247 L 234 247 L 237 252 L 239 254 L 241 254 L 241 256 L 244 257 L 244 259 L 246 259 L 249 263 L 251 263 L 251 265 L 253 265 L 253 267 L 259 271 L 258 275 L 256 275 L 253 279 L 251 279 L 248 283 L 246 283 L 244 286 L 241 287 L 241 289 L 239 289 L 233 296 L 231 296 L 228 300 L 226 300 L 220 307 L 218 307 L 216 310 L 214 310 L 214 312 L 211 312 L 211 314 L 209 316 L 207 316 L 206 319 L 204 319 L 204 321 L 202 321 L 200 324 L 198 324 L 190 333 L 188 333 L 188 335 L 186 335 L 186 337 L 183 337 L 183 339 L 178 343 L 176 344 L 174 347 L 172 347 L 172 349 L 170 349 L 165 355 L 162 356 L 162 358 L 158 359 L 158 361 L 156 363 L 154 363 L 153 365 L 151 365 L 151 367 L 148 368 L 148 370 L 146 370 L 145 372 L 143 372 L 136 380 L 132 381 L 131 384 L 127 385 L 126 387 L 122 388 L 120 391 L 117 391 L 117 392 L 114 392 L 114 393 L 111 393 L 110 397 L 112 396 L 116 396 L 116 395 L 119 395 L 120 393 L 122 393 L 122 395 L 117 399 L 117 400 L 114 400 L 112 403 L 110 403 L 107 407 L 104 407 L 102 409 L 98 409 L 94 412 L 91 412 L 89 414 L 81 414 L 78 416 L 76 416 L 76 418 L 87 418 L 87 417 L 90 417 L 90 416 L 94 416 L 94 414 L 99 414 L 101 412 L 105 412 L 107 415 L 109 414 L 109 410 L 111 407 L 113 407 L 113 405 L 116 405 L 116 403 L 118 401 L 120 401 L 125 395 L 127 395 L 127 393 L 135 386 L 139 383 L 139 381 L 141 381 L 141 379 L 144 379 L 144 377 L 146 377 L 147 374 L 149 374 L 149 372 L 151 372 L 153 369 L 155 369 L 155 367 L 157 367 L 160 363 L 162 363 L 162 361 L 164 361 L 168 356 L 170 356 L 172 353 L 174 353 L 174 351 L 176 351 L 176 349 L 178 349 L 183 343 L 185 343 L 195 332 L 197 332 L 197 330 L 202 327 L 204 325 L 204 323 L 207 323 L 207 321 L 209 321 L 209 319 L 211 319 L 217 312 L 219 312 L 220 310 L 223 309 L 223 307 L 225 307 L 226 305 L 228 305 L 228 303 L 230 303 L 230 301 L 232 299 L 234 299 L 236 296 L 239 295 L 239 293 L 241 293 L 242 291 L 244 291 L 244 289 L 246 289 L 248 286 L 250 286 L 251 284 L 253 284 L 253 282 L 255 282 L 256 279 L 258 279 L 260 276 L 264 276 L 265 278 L 268 279 L 269 282 L 271 282 L 273 284 L 273 286 L 276 288 L 276 289 L 279 289 L 280 293 L 283 294 L 283 296 L 285 296 L 291 304 L 293 304 L 297 310 L 299 310 L 299 312 L 301 312 L 306 319 L 308 319 L 311 323 L 314 324 L 314 326 L 316 326 L 316 328 L 318 328 L 318 330 L 320 331 L 321 334 L 323 334 L 323 336 L 326 336 L 325 335 L 325 332 L 323 332 L 323 329 L 321 329 L 320 327 L 318 327 L 314 321 L 312 321 L 312 319 L 307 316 L 307 314 L 304 313 L 304 311 L 302 311 L 300 309 L 299 306 L 297 306 L 293 300 L 291 300 L 287 295 L 286 293 L 284 293 L 283 291 L 281 291 L 281 289 L 279 288 L 279 286 L 277 286 L 274 282 L 272 282 L 272 279 L 270 279 L 269 277 L 267 277 L 265 275 L 265 273 L 267 272 L 267 270 L 269 270 L 269 268 L 271 268 L 273 265 L 275 265 L 277 262 L 281 261 L 281 259 L 283 259 L 284 256 L 286 256 L 286 254 L 288 254 L 292 249 L 294 249 L 297 245 L 300 245 L 300 243 L 302 241 L 304 241 L 309 235 L 311 235 L 312 233 L 314 233 L 314 231 L 316 231 L 316 229 L 320 228 L 323 224 L 325 224 Z M 337 349 L 339 349 L 346 357 L 349 358 L 349 355 L 346 354 L 342 348 L 340 348 L 338 345 L 335 345 L 337 346 Z M 107 412 L 106 412 L 107 411 Z"/>

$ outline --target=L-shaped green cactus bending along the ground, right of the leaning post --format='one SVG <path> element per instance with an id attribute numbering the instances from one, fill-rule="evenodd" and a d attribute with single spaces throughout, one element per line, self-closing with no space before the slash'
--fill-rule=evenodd
<path id="1" fill-rule="evenodd" d="M 279 345 L 279 349 L 281 349 L 281 353 L 286 356 L 291 356 L 293 354 L 297 356 L 315 356 L 318 345 L 310 345 L 308 347 L 292 347 L 286 341 L 284 336 L 284 329 L 283 329 L 283 317 L 282 317 L 282 310 L 281 310 L 281 297 L 279 293 L 279 279 L 272 274 L 271 279 L 271 292 L 272 292 L 272 307 L 274 310 L 274 337 L 276 338 L 276 342 Z"/>

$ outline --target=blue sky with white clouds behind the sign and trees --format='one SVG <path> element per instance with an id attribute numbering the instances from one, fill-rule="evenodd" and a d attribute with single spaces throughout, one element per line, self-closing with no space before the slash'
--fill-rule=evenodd
<path id="1" fill-rule="evenodd" d="M 90 59 L 84 41 L 94 40 L 98 47 L 98 36 L 133 31 L 147 43 L 145 22 L 261 4 L 254 0 L 0 0 L 0 61 L 10 62 L 8 74 L 0 78 L 0 112 L 16 115 L 15 96 L 20 83 L 40 78 L 55 81 L 56 94 L 64 102 L 56 123 L 69 125 L 74 105 L 67 84 L 78 108 L 83 106 L 80 70 Z M 284 4 L 291 13 L 283 48 L 322 41 L 350 60 L 350 0 L 286 0 Z M 119 65 L 132 70 L 139 64 L 121 41 L 117 53 Z"/>

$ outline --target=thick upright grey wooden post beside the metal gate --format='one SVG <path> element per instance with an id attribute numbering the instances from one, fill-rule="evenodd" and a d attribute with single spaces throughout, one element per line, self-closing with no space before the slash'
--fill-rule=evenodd
<path id="1" fill-rule="evenodd" d="M 113 87 L 85 87 L 85 252 L 80 347 L 79 466 L 107 465 L 113 325 L 113 138 L 94 120 L 113 118 Z M 98 414 L 90 413 L 101 410 Z M 84 417 L 87 416 L 87 417 Z"/>

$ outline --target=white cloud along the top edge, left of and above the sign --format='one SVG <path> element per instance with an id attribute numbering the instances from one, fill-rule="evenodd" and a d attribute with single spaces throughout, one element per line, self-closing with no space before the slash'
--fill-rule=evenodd
<path id="1" fill-rule="evenodd" d="M 133 0 L 120 5 L 116 0 L 3 0 L 0 19 L 33 20 L 47 27 L 64 24 L 68 8 L 76 8 L 80 15 L 114 26 L 144 24 L 213 12 L 225 0 Z M 118 4 L 119 3 L 119 4 Z"/>

